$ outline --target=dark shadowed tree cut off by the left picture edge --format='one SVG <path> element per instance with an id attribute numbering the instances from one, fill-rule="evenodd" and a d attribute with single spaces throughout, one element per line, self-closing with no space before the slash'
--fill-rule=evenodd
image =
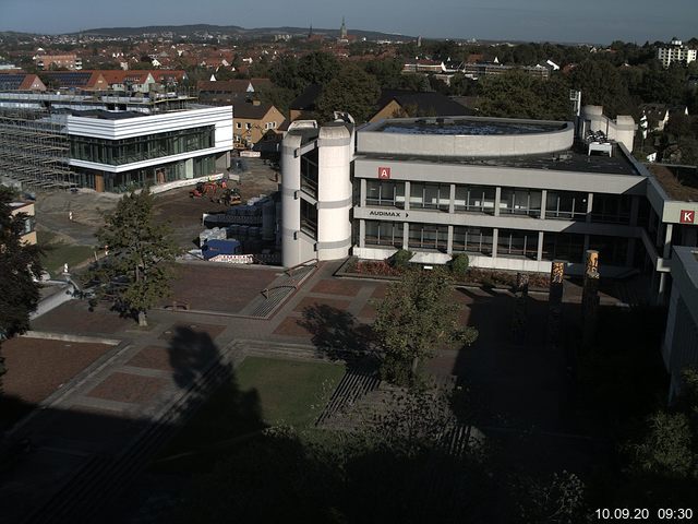
<path id="1" fill-rule="evenodd" d="M 14 196 L 14 191 L 0 186 L 0 342 L 29 329 L 29 313 L 39 301 L 34 275 L 43 270 L 40 248 L 22 243 L 27 217 L 12 216 Z M 0 377 L 4 371 L 0 355 Z"/>

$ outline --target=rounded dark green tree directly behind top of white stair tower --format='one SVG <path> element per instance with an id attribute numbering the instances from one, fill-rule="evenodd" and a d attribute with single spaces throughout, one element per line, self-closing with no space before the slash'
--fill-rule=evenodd
<path id="1" fill-rule="evenodd" d="M 375 76 L 357 66 L 347 66 L 323 88 L 317 110 L 323 118 L 347 111 L 357 122 L 365 122 L 375 111 L 381 87 Z"/>

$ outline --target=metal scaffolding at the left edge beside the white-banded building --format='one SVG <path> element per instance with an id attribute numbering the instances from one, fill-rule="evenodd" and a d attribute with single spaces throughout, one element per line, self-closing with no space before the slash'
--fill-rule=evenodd
<path id="1" fill-rule="evenodd" d="M 76 187 L 69 166 L 70 140 L 46 110 L 0 110 L 0 177 L 23 190 Z"/>

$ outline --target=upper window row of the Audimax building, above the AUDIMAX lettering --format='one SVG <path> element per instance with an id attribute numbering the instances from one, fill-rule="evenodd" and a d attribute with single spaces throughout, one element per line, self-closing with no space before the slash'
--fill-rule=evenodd
<path id="1" fill-rule="evenodd" d="M 491 186 L 456 184 L 453 200 L 454 211 L 494 214 L 496 188 Z M 525 215 L 540 217 L 542 191 L 531 189 L 502 188 L 500 194 L 501 215 Z M 547 191 L 545 217 L 566 221 L 585 221 L 588 210 L 588 193 L 575 191 Z M 405 182 L 366 180 L 365 203 L 368 206 L 411 210 L 440 210 L 448 212 L 452 204 L 448 183 L 410 183 L 409 195 Z M 594 194 L 591 218 L 593 222 L 629 224 L 631 198 L 617 194 Z"/>

